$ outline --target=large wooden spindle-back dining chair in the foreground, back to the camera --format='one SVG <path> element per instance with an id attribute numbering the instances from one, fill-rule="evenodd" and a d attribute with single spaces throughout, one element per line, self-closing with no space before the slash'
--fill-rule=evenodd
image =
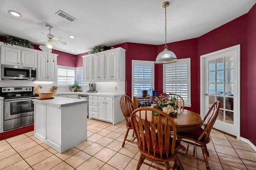
<path id="1" fill-rule="evenodd" d="M 158 115 L 153 115 L 154 112 Z M 169 162 L 174 160 L 174 168 L 177 166 L 183 169 L 176 155 L 180 142 L 176 140 L 176 127 L 170 116 L 158 109 L 144 107 L 133 111 L 131 123 L 141 153 L 136 170 L 140 169 L 142 163 L 163 170 L 144 162 L 145 158 L 165 166 L 166 170 L 170 169 Z M 170 130 L 173 131 L 173 137 L 170 135 Z M 164 162 L 164 164 L 161 162 Z"/>

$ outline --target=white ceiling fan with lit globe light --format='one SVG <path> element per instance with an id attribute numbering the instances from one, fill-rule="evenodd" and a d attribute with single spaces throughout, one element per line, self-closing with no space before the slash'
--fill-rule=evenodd
<path id="1" fill-rule="evenodd" d="M 52 26 L 46 26 L 46 28 L 49 30 L 49 34 L 48 33 L 44 34 L 44 33 L 40 32 L 40 34 L 42 34 L 42 36 L 43 36 L 42 39 L 44 39 L 44 40 L 40 40 L 38 42 L 46 42 L 46 44 L 45 44 L 46 47 L 50 48 L 50 49 L 52 49 L 54 47 L 53 43 L 56 43 L 56 44 L 60 43 L 63 45 L 67 44 L 66 42 L 61 41 L 62 38 L 60 38 L 58 36 L 55 37 L 54 35 L 51 34 L 51 30 L 53 30 Z"/>

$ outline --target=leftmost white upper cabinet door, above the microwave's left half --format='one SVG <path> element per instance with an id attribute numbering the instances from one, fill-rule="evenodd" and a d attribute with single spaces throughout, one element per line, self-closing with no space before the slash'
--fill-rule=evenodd
<path id="1" fill-rule="evenodd" d="M 1 46 L 1 64 L 20 65 L 20 49 Z"/>

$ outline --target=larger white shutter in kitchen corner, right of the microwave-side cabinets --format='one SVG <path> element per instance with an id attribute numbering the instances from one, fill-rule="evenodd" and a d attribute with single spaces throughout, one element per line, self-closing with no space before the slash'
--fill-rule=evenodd
<path id="1" fill-rule="evenodd" d="M 58 67 L 58 85 L 74 84 L 76 75 L 75 69 Z"/>

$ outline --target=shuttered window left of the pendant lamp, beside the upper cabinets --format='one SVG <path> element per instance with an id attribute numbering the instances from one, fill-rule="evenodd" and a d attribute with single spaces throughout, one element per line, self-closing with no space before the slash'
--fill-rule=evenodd
<path id="1" fill-rule="evenodd" d="M 132 95 L 154 89 L 154 61 L 132 60 Z"/>

